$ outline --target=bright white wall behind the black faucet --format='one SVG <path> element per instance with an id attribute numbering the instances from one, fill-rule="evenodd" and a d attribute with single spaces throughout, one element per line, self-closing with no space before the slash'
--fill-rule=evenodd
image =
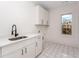
<path id="1" fill-rule="evenodd" d="M 13 24 L 20 35 L 36 33 L 35 21 L 35 5 L 31 2 L 0 1 L 0 37 L 11 35 Z"/>

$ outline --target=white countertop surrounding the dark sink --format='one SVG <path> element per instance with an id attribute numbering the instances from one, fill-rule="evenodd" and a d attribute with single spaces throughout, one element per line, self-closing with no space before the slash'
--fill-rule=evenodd
<path id="1" fill-rule="evenodd" d="M 16 43 L 16 42 L 19 42 L 19 41 L 27 40 L 27 39 L 30 39 L 30 38 L 35 37 L 37 35 L 40 35 L 40 34 L 24 35 L 24 36 L 28 36 L 28 38 L 24 38 L 22 40 L 21 39 L 15 40 L 15 41 L 10 41 L 9 38 L 11 38 L 11 37 L 0 38 L 0 47 L 6 46 L 6 45 L 9 45 L 9 44 L 12 44 L 12 43 Z"/>

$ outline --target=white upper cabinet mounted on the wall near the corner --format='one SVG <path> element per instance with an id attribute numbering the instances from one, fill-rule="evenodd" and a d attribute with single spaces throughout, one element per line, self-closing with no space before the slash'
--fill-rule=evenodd
<path id="1" fill-rule="evenodd" d="M 39 5 L 36 6 L 36 25 L 48 26 L 48 11 Z"/>

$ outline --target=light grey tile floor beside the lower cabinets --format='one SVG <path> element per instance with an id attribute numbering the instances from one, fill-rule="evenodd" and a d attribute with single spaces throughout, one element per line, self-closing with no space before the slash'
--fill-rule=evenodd
<path id="1" fill-rule="evenodd" d="M 57 43 L 46 43 L 38 58 L 79 58 L 79 48 Z"/>

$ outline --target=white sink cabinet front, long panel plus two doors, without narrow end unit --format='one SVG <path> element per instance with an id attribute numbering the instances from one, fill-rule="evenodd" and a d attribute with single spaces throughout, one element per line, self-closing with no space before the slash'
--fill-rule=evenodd
<path id="1" fill-rule="evenodd" d="M 2 47 L 2 58 L 35 57 L 36 37 Z"/>

